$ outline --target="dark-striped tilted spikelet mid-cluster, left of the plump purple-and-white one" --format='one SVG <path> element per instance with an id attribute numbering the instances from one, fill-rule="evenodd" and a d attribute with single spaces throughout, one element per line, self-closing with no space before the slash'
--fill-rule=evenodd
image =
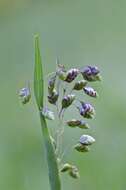
<path id="1" fill-rule="evenodd" d="M 67 96 L 64 96 L 64 98 L 62 99 L 62 109 L 69 107 L 74 100 L 75 100 L 74 94 L 69 94 Z"/>

